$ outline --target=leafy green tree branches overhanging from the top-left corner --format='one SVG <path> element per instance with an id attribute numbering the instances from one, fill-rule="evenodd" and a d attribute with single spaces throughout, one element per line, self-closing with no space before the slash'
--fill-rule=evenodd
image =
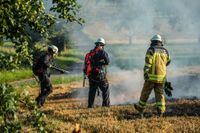
<path id="1" fill-rule="evenodd" d="M 18 64 L 22 60 L 30 62 L 28 42 L 31 38 L 26 28 L 44 36 L 57 18 L 82 24 L 84 20 L 78 15 L 79 9 L 76 0 L 52 0 L 52 12 L 45 10 L 43 0 L 0 0 L 0 38 L 15 44 Z"/>

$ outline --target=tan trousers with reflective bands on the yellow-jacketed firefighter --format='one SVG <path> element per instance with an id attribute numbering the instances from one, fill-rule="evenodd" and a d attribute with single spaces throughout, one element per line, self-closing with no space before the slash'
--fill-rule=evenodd
<path id="1" fill-rule="evenodd" d="M 154 83 L 152 81 L 146 80 L 141 92 L 139 106 L 143 109 L 145 108 L 149 95 L 151 94 L 151 91 L 154 89 L 155 98 L 156 98 L 156 107 L 158 111 L 160 111 L 161 113 L 164 113 L 165 112 L 165 97 L 164 97 L 163 87 L 164 87 L 164 83 Z"/>

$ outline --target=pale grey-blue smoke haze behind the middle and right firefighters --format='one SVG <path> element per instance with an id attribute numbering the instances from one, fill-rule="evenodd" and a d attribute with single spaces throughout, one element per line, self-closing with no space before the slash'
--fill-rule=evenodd
<path id="1" fill-rule="evenodd" d="M 200 64 L 200 48 L 196 44 L 200 36 L 199 0 L 84 0 L 79 3 L 86 23 L 74 24 L 72 40 L 86 53 L 98 37 L 105 38 L 111 59 L 108 74 L 112 104 L 139 99 L 144 82 L 144 56 L 154 34 L 162 35 L 172 58 L 168 80 L 175 89 L 173 97 L 200 97 L 200 71 L 190 71 Z"/>

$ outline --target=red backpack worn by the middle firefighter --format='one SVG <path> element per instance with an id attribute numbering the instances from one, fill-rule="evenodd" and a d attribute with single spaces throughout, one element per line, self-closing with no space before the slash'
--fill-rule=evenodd
<path id="1" fill-rule="evenodd" d="M 93 65 L 94 55 L 96 54 L 97 50 L 93 49 L 85 55 L 85 63 L 84 63 L 83 72 L 87 76 L 90 76 L 91 74 L 98 74 L 100 72 L 100 69 Z"/>

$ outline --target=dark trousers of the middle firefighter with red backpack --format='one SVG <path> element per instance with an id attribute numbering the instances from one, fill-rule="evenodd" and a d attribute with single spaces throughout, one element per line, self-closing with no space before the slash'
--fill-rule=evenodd
<path id="1" fill-rule="evenodd" d="M 98 88 L 102 91 L 102 106 L 110 106 L 110 91 L 107 79 L 102 81 L 89 79 L 88 108 L 92 108 L 94 106 L 94 99 Z"/>

